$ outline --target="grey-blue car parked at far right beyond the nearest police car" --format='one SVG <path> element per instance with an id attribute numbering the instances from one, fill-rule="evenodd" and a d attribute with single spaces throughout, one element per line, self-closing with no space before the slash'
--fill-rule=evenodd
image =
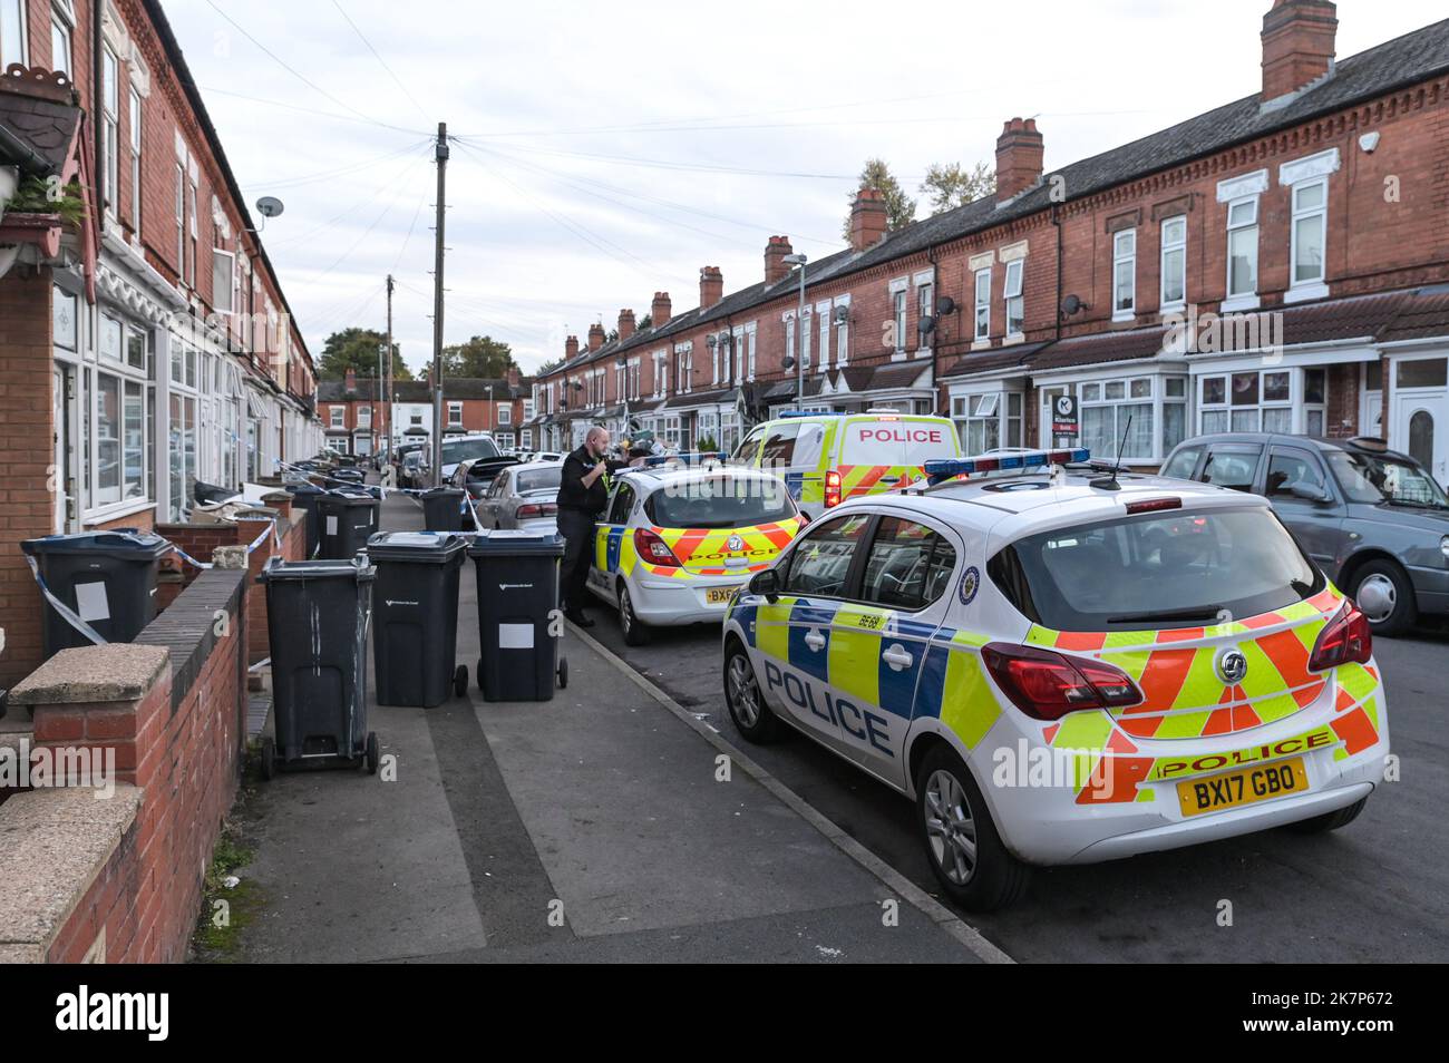
<path id="1" fill-rule="evenodd" d="M 1381 439 L 1197 436 L 1162 475 L 1265 495 L 1375 634 L 1449 613 L 1449 497 Z"/>

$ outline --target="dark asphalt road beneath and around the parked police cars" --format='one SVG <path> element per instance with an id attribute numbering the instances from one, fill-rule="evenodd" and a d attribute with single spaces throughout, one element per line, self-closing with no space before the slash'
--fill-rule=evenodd
<path id="1" fill-rule="evenodd" d="M 627 647 L 601 602 L 590 631 L 703 714 L 796 794 L 913 882 L 940 896 L 914 810 L 816 743 L 745 746 L 724 708 L 719 629 L 659 629 Z M 1449 960 L 1449 630 L 1379 639 L 1390 740 L 1401 782 L 1381 786 L 1343 830 L 1285 830 L 1114 863 L 1039 869 L 1016 907 L 964 914 L 1020 962 Z M 1232 925 L 1220 925 L 1229 901 Z"/>

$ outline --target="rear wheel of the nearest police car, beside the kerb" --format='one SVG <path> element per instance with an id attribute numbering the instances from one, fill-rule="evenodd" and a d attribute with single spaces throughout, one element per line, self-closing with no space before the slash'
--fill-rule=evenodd
<path id="1" fill-rule="evenodd" d="M 1011 856 L 965 762 L 951 746 L 926 755 L 916 776 L 916 817 L 942 889 L 968 911 L 1016 901 L 1032 869 Z"/>

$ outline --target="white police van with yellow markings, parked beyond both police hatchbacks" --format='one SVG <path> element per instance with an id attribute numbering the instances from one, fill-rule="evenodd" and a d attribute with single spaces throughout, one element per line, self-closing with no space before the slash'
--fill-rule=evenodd
<path id="1" fill-rule="evenodd" d="M 868 410 L 788 413 L 751 429 L 733 465 L 784 478 L 800 508 L 819 517 L 848 498 L 884 494 L 922 475 L 932 458 L 959 458 L 961 442 L 946 417 Z"/>

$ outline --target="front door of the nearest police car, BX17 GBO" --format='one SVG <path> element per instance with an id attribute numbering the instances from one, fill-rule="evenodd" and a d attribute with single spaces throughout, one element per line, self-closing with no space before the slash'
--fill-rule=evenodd
<path id="1" fill-rule="evenodd" d="M 765 699 L 796 726 L 848 753 L 830 698 L 832 620 L 858 581 L 874 516 L 851 513 L 809 529 L 781 562 L 775 601 L 755 607 L 755 673 Z"/>

